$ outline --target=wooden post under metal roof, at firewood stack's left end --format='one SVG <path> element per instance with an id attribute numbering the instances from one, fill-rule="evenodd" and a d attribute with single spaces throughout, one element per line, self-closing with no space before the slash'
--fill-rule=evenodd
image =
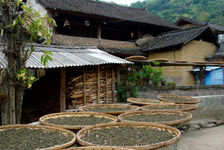
<path id="1" fill-rule="evenodd" d="M 66 68 L 61 68 L 61 87 L 60 87 L 60 111 L 64 112 L 66 108 L 65 97 Z"/>

